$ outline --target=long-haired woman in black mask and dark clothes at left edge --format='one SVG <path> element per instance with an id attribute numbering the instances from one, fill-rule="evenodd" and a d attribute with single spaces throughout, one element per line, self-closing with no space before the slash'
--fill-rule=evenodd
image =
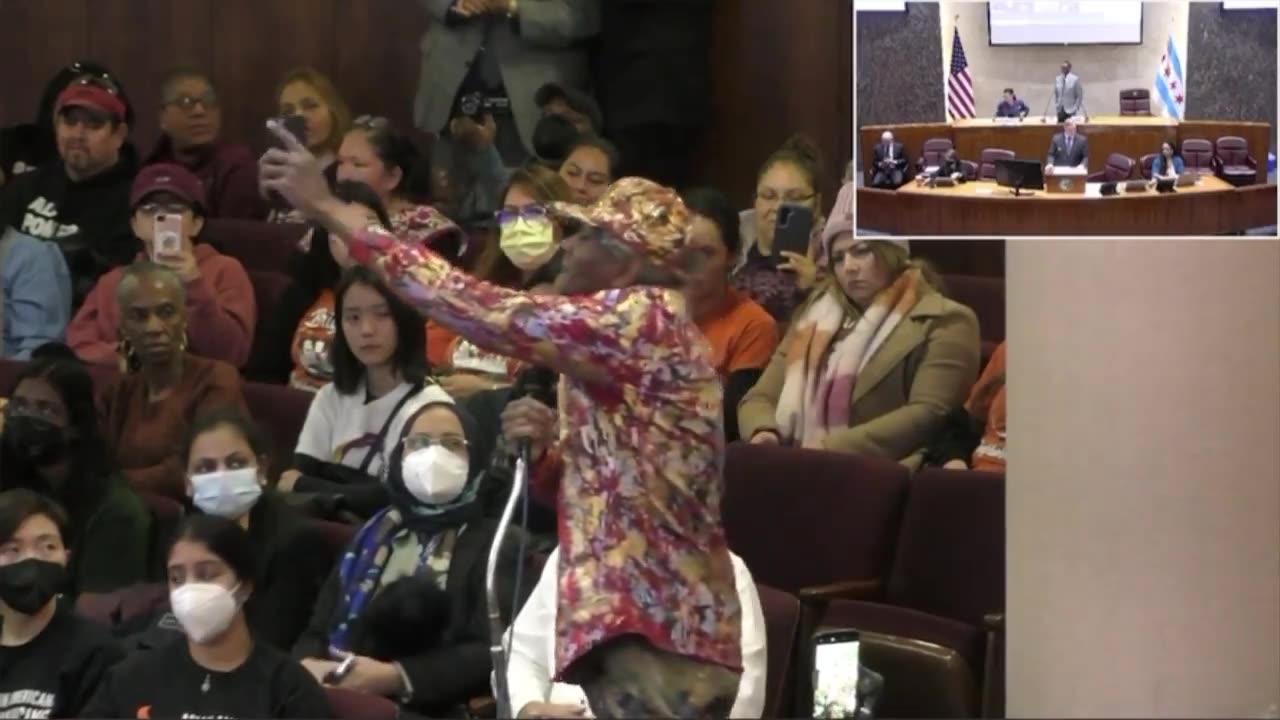
<path id="1" fill-rule="evenodd" d="M 110 592 L 145 582 L 151 515 L 115 470 L 88 372 L 77 360 L 41 357 L 22 369 L 8 396 L 0 483 L 67 509 L 68 589 Z"/>

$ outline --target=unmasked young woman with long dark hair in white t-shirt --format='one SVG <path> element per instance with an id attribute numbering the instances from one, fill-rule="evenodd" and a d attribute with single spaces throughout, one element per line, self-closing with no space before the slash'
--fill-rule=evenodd
<path id="1" fill-rule="evenodd" d="M 333 382 L 311 401 L 278 489 L 340 495 L 370 515 L 387 505 L 378 478 L 404 419 L 452 398 L 428 377 L 422 318 L 374 270 L 346 270 L 334 297 Z"/>

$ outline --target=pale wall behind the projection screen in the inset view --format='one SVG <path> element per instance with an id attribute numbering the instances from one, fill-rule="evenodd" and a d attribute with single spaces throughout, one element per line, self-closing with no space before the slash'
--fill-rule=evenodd
<path id="1" fill-rule="evenodd" d="M 996 114 L 1001 92 L 1012 87 L 1027 101 L 1032 115 L 1044 114 L 1053 99 L 1053 76 L 1064 59 L 1084 83 L 1084 106 L 1091 115 L 1120 114 L 1120 91 L 1130 87 L 1151 90 L 1156 65 L 1174 29 L 1181 47 L 1183 73 L 1190 77 L 1187 47 L 1187 3 L 1143 3 L 1142 45 L 1098 45 L 1078 47 L 992 47 L 988 45 L 987 4 L 941 3 L 942 83 L 951 68 L 951 41 L 959 26 L 960 41 L 973 76 L 974 108 L 979 118 Z M 1048 114 L 1053 114 L 1050 108 Z"/>

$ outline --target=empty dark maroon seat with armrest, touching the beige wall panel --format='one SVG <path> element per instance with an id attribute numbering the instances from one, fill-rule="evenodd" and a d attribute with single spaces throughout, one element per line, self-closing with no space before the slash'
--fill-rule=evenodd
<path id="1" fill-rule="evenodd" d="M 950 678 L 947 683 L 968 683 L 970 697 L 980 697 L 984 707 L 1002 705 L 995 697 L 1002 693 L 1000 678 L 987 671 L 987 662 L 1001 655 L 1002 642 L 1005 475 L 916 473 L 896 547 L 883 598 L 832 600 L 822 625 L 937 646 L 915 661 L 929 664 L 932 676 Z M 968 716 L 978 715 L 977 700 L 969 710 Z"/>

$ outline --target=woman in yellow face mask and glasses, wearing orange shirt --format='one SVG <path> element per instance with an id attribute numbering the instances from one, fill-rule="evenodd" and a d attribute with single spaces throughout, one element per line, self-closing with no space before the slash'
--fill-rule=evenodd
<path id="1" fill-rule="evenodd" d="M 529 164 L 512 173 L 502 209 L 494 213 L 498 242 L 477 260 L 476 277 L 503 287 L 550 292 L 559 272 L 562 232 L 544 208 L 568 201 L 570 195 L 564 181 L 543 165 Z M 454 400 L 506 387 L 520 369 L 508 357 L 484 352 L 434 322 L 426 324 L 426 357 Z"/>

